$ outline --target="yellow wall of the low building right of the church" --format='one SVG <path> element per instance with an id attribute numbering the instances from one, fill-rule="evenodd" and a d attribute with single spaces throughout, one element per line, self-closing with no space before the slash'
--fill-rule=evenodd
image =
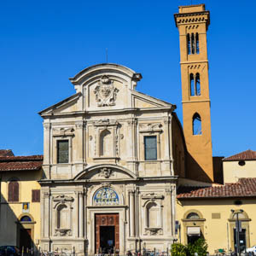
<path id="1" fill-rule="evenodd" d="M 213 254 L 218 248 L 224 248 L 227 252 L 231 248 L 234 250 L 234 241 L 232 224 L 229 219 L 232 216 L 231 209 L 239 210 L 242 209 L 247 213 L 249 220 L 242 221 L 242 227 L 247 228 L 247 247 L 251 247 L 256 244 L 256 199 L 241 199 L 242 205 L 236 206 L 234 202 L 236 199 L 210 199 L 210 200 L 177 200 L 177 220 L 181 224 L 180 237 L 177 235 L 178 241 L 186 243 L 186 229 L 184 228 L 183 219 L 189 212 L 198 211 L 201 212 L 202 218 L 202 233 L 204 238 L 207 240 L 208 252 Z M 212 213 L 220 213 L 220 218 L 212 218 Z M 213 214 L 214 215 L 214 214 Z M 193 223 L 196 222 L 193 221 Z M 233 232 L 233 231 L 232 231 Z"/>

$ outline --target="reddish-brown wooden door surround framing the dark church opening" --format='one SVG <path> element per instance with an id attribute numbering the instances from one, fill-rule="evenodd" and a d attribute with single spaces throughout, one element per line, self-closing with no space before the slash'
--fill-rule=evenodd
<path id="1" fill-rule="evenodd" d="M 114 247 L 119 250 L 119 213 L 95 215 L 96 253 L 99 251 L 101 241 L 101 226 L 114 226 Z"/>

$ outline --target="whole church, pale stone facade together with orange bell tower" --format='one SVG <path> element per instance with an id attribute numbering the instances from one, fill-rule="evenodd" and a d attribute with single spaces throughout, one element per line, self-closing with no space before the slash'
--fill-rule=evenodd
<path id="1" fill-rule="evenodd" d="M 136 90 L 140 73 L 110 63 L 85 68 L 70 79 L 73 96 L 40 112 L 44 251 L 166 251 L 177 241 L 177 187 L 211 186 L 210 16 L 199 4 L 174 18 L 183 128 L 175 105 Z"/>

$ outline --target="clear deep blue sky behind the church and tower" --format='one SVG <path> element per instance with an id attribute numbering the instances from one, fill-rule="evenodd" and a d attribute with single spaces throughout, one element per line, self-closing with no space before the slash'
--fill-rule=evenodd
<path id="1" fill-rule="evenodd" d="M 43 154 L 38 111 L 74 94 L 68 78 L 108 61 L 143 74 L 137 85 L 177 105 L 182 120 L 178 5 L 191 0 L 1 1 L 0 148 Z M 202 3 L 193 0 L 193 3 Z M 256 150 L 255 0 L 210 1 L 208 58 L 213 155 Z"/>

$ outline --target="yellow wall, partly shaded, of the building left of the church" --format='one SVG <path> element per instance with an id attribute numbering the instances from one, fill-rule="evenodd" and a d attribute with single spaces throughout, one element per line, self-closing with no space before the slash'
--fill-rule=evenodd
<path id="1" fill-rule="evenodd" d="M 0 174 L 1 175 L 1 174 Z M 38 247 L 40 239 L 40 202 L 32 202 L 32 189 L 41 189 L 37 180 L 42 177 L 42 171 L 4 172 L 1 182 L 1 219 L 0 219 L 0 245 L 19 246 L 17 219 L 21 215 L 32 217 L 32 241 Z M 8 202 L 8 184 L 12 178 L 18 178 L 19 202 Z M 29 212 L 22 212 L 22 203 L 29 202 Z M 24 227 L 27 228 L 27 227 Z M 2 232 L 3 231 L 3 232 Z"/>

